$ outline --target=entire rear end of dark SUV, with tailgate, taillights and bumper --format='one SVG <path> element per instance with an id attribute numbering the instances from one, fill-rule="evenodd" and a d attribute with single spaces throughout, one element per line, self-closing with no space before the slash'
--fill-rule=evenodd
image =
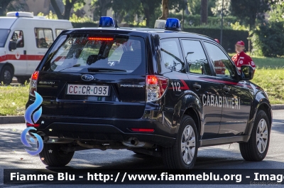
<path id="1" fill-rule="evenodd" d="M 163 123 L 151 118 L 161 110 L 153 101 L 168 87 L 168 80 L 148 72 L 151 45 L 147 32 L 64 31 L 31 77 L 27 107 L 35 92 L 43 103 L 38 122 L 27 126 L 36 127 L 47 143 L 89 148 L 172 144 Z"/>

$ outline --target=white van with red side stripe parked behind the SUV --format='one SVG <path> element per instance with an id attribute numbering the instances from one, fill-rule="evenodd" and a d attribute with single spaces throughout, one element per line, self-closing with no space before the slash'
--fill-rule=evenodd
<path id="1" fill-rule="evenodd" d="M 30 12 L 0 16 L 0 83 L 13 76 L 25 83 L 61 31 L 72 28 L 67 20 L 50 20 Z"/>

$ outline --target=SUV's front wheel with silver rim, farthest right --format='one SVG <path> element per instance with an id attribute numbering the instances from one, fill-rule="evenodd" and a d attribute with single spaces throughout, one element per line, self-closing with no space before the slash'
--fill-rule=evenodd
<path id="1" fill-rule="evenodd" d="M 259 110 L 256 114 L 249 142 L 240 143 L 241 156 L 247 161 L 262 161 L 268 152 L 270 126 L 266 113 Z"/>

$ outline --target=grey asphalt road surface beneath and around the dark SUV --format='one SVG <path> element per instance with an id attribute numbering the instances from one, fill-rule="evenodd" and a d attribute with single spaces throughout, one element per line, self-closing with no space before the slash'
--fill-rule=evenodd
<path id="1" fill-rule="evenodd" d="M 9 187 L 3 184 L 3 169 L 6 168 L 33 168 L 44 169 L 38 156 L 31 156 L 24 150 L 20 135 L 25 129 L 24 124 L 0 125 L 0 187 Z M 284 110 L 273 111 L 273 128 L 268 155 L 263 162 L 246 162 L 241 157 L 238 144 L 214 147 L 202 147 L 198 151 L 196 168 L 228 169 L 284 169 Z M 75 152 L 67 168 L 104 168 L 104 169 L 158 169 L 163 168 L 159 157 L 136 155 L 128 150 L 84 150 Z M 36 185 L 38 186 L 38 185 Z M 200 185 L 178 185 L 177 187 L 200 187 Z M 244 185 L 224 185 L 226 187 L 246 187 Z M 13 187 L 32 187 L 31 185 L 13 185 Z M 48 187 L 48 186 L 43 186 Z M 77 187 L 77 185 L 53 185 L 53 187 Z M 91 187 L 88 185 L 80 187 Z M 99 187 L 113 187 L 102 185 Z M 116 187 L 153 187 L 151 185 L 116 185 Z M 175 187 L 173 185 L 155 185 L 155 187 Z M 202 187 L 223 187 L 208 185 Z M 248 185 L 249 187 L 249 185 Z M 263 186 L 262 186 L 263 187 Z M 271 186 L 269 186 L 271 187 Z"/>

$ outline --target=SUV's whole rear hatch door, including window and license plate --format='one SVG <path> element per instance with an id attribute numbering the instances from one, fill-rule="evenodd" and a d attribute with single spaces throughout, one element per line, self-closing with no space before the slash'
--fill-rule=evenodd
<path id="1" fill-rule="evenodd" d="M 119 35 L 64 35 L 40 71 L 45 115 L 139 118 L 146 103 L 145 41 Z"/>

